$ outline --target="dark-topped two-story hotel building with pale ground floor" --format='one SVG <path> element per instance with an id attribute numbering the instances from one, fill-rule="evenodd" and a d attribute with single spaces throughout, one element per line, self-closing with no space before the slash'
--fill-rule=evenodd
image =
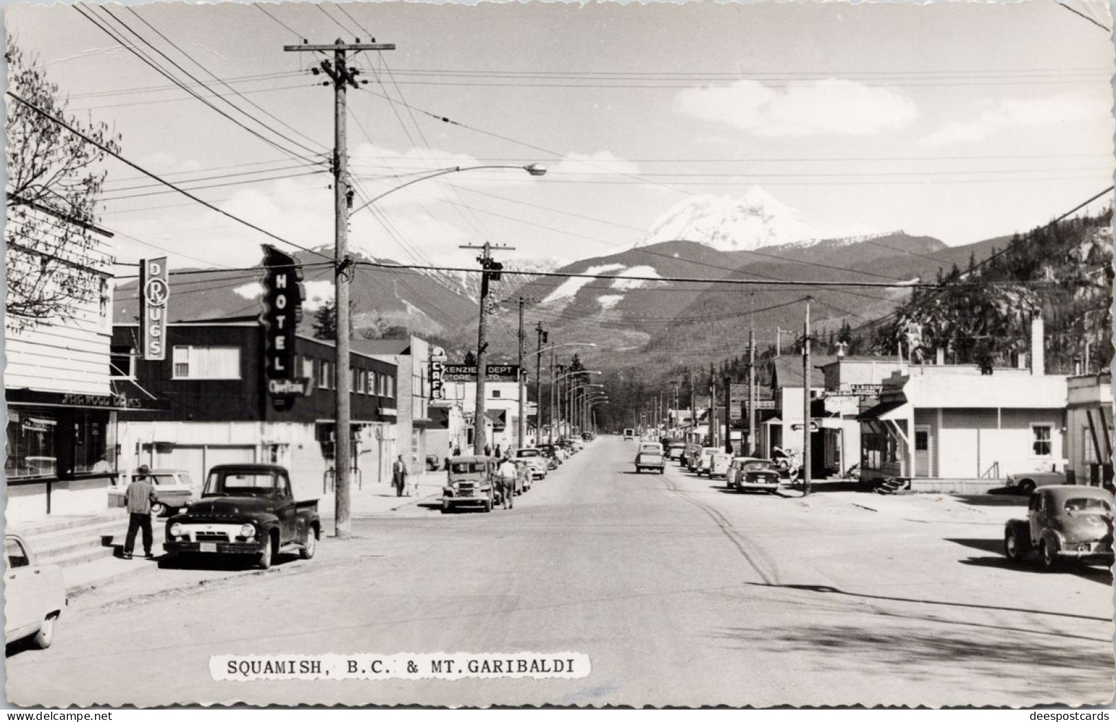
<path id="1" fill-rule="evenodd" d="M 117 325 L 112 352 L 115 381 L 166 405 L 164 411 L 119 413 L 122 466 L 179 469 L 201 485 L 214 464 L 259 462 L 287 466 L 299 498 L 334 490 L 336 352 L 334 343 L 296 336 L 295 368 L 309 379 L 290 408 L 272 403 L 263 373 L 263 327 L 258 317 L 179 321 L 166 334 L 166 359 L 137 358 L 137 327 Z M 389 479 L 396 453 L 396 367 L 350 354 L 354 487 Z"/>

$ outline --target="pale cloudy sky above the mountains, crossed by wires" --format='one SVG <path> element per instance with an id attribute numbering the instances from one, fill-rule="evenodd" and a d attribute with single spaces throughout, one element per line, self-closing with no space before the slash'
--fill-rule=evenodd
<path id="1" fill-rule="evenodd" d="M 310 73 L 325 56 L 283 46 L 395 44 L 350 62 L 367 80 L 347 94 L 355 205 L 387 193 L 352 216 L 350 243 L 403 263 L 471 264 L 459 247 L 484 241 L 514 249 L 503 258 L 608 256 L 679 203 L 756 186 L 819 229 L 956 246 L 1049 221 L 1112 183 L 1113 47 L 1051 0 L 341 7 L 85 7 L 167 71 L 204 81 L 196 93 L 225 95 L 240 109 L 210 102 L 270 143 L 73 7 L 7 6 L 4 21 L 71 112 L 115 126 L 125 157 L 212 186 L 196 194 L 310 248 L 334 238 L 320 162 L 334 97 Z M 1101 3 L 1071 7 L 1110 22 Z M 535 162 L 547 175 L 519 167 Z M 472 165 L 511 167 L 395 190 Z M 239 267 L 275 243 L 107 167 L 100 222 L 118 260 Z"/>

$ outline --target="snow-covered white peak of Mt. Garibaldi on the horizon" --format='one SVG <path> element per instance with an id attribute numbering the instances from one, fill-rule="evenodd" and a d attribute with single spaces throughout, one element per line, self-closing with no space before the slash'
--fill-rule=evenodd
<path id="1" fill-rule="evenodd" d="M 751 251 L 870 232 L 865 227 L 826 229 L 811 225 L 796 209 L 753 185 L 740 198 L 695 195 L 679 202 L 655 221 L 636 246 L 685 240 L 719 251 Z"/>

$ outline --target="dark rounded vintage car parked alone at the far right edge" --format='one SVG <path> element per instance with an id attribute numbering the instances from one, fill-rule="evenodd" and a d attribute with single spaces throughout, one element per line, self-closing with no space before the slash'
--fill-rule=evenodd
<path id="1" fill-rule="evenodd" d="M 1113 494 L 1099 487 L 1041 487 L 1031 493 L 1027 519 L 1003 530 L 1003 552 L 1020 561 L 1037 552 L 1042 566 L 1061 561 L 1113 564 Z"/>

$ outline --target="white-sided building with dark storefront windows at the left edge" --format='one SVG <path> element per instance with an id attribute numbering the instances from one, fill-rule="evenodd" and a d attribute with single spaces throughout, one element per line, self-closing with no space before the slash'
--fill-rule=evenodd
<path id="1" fill-rule="evenodd" d="M 9 208 L 8 220 L 21 225 L 60 222 L 26 206 Z M 6 244 L 8 272 L 25 278 L 41 273 L 36 283 L 47 289 L 46 296 L 59 283 L 88 289 L 57 289 L 70 296 L 65 312 L 4 316 L 3 475 L 10 523 L 106 509 L 117 468 L 117 413 L 157 405 L 134 388 L 114 388 L 110 234 L 87 230 L 93 244 L 80 256 L 62 248 L 36 250 L 18 240 Z M 9 298 L 12 308 L 27 301 L 19 298 L 20 288 L 8 287 L 8 293 L 17 296 Z M 37 312 L 33 302 L 26 305 L 30 314 Z"/>

